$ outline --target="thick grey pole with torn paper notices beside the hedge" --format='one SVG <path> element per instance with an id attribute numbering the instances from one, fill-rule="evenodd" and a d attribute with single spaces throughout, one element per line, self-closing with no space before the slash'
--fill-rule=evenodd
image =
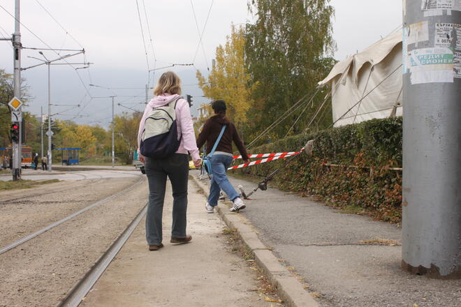
<path id="1" fill-rule="evenodd" d="M 461 8 L 404 3 L 402 267 L 461 278 Z"/>

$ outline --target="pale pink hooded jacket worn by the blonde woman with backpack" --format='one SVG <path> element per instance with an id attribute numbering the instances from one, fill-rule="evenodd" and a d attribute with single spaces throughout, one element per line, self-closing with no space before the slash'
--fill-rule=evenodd
<path id="1" fill-rule="evenodd" d="M 162 105 L 166 105 L 171 100 L 177 98 L 179 95 L 170 95 L 168 93 L 164 93 L 163 95 L 156 96 L 152 98 L 146 105 L 146 109 L 144 110 L 144 114 L 142 115 L 142 119 L 139 123 L 139 130 L 138 130 L 138 156 L 142 157 L 139 148 L 141 144 L 141 135 L 142 131 L 144 131 L 144 124 L 145 120 L 149 116 L 149 113 L 152 111 L 154 107 L 161 107 Z M 180 148 L 177 149 L 176 153 L 191 153 L 193 160 L 198 160 L 200 158 L 197 148 L 196 142 L 196 135 L 193 132 L 193 124 L 191 118 L 191 110 L 189 108 L 189 103 L 186 100 L 180 99 L 177 100 L 176 105 L 176 119 L 177 119 L 177 137 L 179 138 L 182 135 L 182 140 L 180 144 Z"/>

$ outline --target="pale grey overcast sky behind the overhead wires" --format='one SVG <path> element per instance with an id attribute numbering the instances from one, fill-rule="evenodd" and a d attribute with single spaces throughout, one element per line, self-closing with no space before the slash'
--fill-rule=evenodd
<path id="1" fill-rule="evenodd" d="M 0 6 L 14 14 L 14 2 L 1 0 Z M 330 3 L 335 8 L 332 21 L 337 60 L 365 49 L 402 24 L 402 0 Z M 10 37 L 14 19 L 3 8 L 0 7 L 0 37 Z M 145 85 L 154 87 L 167 70 L 180 75 L 183 96 L 193 96 L 195 115 L 196 107 L 207 102 L 207 98 L 200 97 L 203 93 L 197 86 L 196 70 L 206 75 L 216 47 L 226 42 L 232 24 L 254 20 L 247 12 L 247 0 L 21 0 L 20 9 L 24 47 L 85 48 L 85 56 L 66 59 L 75 65 L 50 66 L 51 114 L 103 127 L 111 121 L 112 98 L 108 96 L 117 96 L 115 114 L 142 111 Z M 73 53 L 43 50 L 50 60 Z M 38 50 L 23 50 L 22 68 L 41 63 L 31 57 L 43 59 Z M 87 66 L 80 64 L 85 62 L 92 64 L 74 69 Z M 165 68 L 172 64 L 175 66 Z M 0 41 L 0 68 L 13 72 L 13 52 L 7 41 Z M 43 107 L 46 113 L 47 67 L 24 70 L 22 77 L 34 98 L 25 110 L 40 114 Z"/>

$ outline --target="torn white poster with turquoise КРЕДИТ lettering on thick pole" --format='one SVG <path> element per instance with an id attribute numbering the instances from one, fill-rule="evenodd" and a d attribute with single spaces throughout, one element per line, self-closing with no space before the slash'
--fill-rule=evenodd
<path id="1" fill-rule="evenodd" d="M 411 84 L 453 83 L 453 51 L 448 47 L 423 48 L 409 55 Z"/>

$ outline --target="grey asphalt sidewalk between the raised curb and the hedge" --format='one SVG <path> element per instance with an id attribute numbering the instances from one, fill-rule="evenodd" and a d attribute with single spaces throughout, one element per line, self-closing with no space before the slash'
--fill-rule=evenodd
<path id="1" fill-rule="evenodd" d="M 256 186 L 231 182 L 247 193 Z M 402 271 L 402 247 L 392 246 L 402 241 L 400 227 L 342 214 L 275 188 L 258 190 L 251 198 L 240 214 L 316 292 L 319 306 L 461 306 L 461 280 Z"/>

